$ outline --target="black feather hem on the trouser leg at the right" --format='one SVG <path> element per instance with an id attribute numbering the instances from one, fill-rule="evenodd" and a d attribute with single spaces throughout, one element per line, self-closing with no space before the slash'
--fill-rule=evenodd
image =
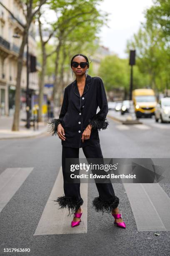
<path id="1" fill-rule="evenodd" d="M 117 208 L 119 205 L 119 198 L 115 196 L 115 200 L 103 201 L 100 197 L 95 197 L 92 201 L 92 207 L 96 212 L 110 213 L 112 209 Z"/>

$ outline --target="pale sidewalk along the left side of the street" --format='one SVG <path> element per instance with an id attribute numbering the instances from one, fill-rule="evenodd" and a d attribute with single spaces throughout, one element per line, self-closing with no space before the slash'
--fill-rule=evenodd
<path id="1" fill-rule="evenodd" d="M 12 138 L 31 138 L 39 136 L 43 133 L 47 133 L 49 130 L 47 122 L 38 123 L 38 130 L 34 131 L 33 126 L 30 129 L 25 127 L 25 122 L 21 121 L 22 118 L 26 118 L 26 113 L 21 111 L 20 113 L 20 129 L 19 131 L 11 131 L 13 125 L 13 116 L 0 116 L 0 140 L 12 139 Z M 35 123 L 35 129 L 37 123 Z"/>

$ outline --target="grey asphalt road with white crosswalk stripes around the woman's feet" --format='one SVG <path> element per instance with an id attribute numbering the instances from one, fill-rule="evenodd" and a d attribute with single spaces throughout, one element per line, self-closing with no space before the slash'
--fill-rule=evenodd
<path id="1" fill-rule="evenodd" d="M 170 124 L 142 119 L 143 125 L 132 126 L 108 120 L 107 130 L 100 132 L 105 158 L 169 158 Z M 98 196 L 96 186 L 83 184 L 82 197 L 87 196 L 87 205 L 82 206 L 82 227 L 67 228 L 65 223 L 72 218 L 63 218 L 62 211 L 56 211 L 57 205 L 49 205 L 51 195 L 62 195 L 61 148 L 59 138 L 50 134 L 0 141 L 0 255 L 170 255 L 169 182 L 140 187 L 147 199 L 138 207 L 136 203 L 144 200 L 139 187 L 133 192 L 128 186 L 113 184 L 126 229 L 117 228 L 111 214 L 95 212 L 91 202 Z M 84 158 L 82 149 L 80 157 Z M 153 196 L 152 189 L 158 194 Z M 141 231 L 154 221 L 155 229 Z M 43 230 L 48 233 L 43 234 Z M 4 248 L 30 248 L 30 252 L 7 253 Z"/>

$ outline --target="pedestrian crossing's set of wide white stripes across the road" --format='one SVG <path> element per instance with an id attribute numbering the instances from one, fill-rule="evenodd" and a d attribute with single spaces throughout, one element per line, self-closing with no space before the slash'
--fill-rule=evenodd
<path id="1" fill-rule="evenodd" d="M 26 179 L 33 169 L 34 167 L 7 168 L 0 174 L 0 212 L 2 209 L 5 210 L 8 203 L 10 204 L 11 198 L 23 182 L 27 182 Z M 170 231 L 170 197 L 160 184 L 124 183 L 123 185 L 138 231 Z M 80 185 L 80 192 L 84 201 L 82 222 L 78 227 L 71 228 L 72 215 L 67 217 L 68 210 L 59 209 L 59 205 L 53 201 L 64 194 L 62 167 L 60 167 L 50 196 L 35 227 L 34 236 L 87 233 L 87 183 Z M 116 195 L 119 197 L 119 191 L 116 191 Z"/>

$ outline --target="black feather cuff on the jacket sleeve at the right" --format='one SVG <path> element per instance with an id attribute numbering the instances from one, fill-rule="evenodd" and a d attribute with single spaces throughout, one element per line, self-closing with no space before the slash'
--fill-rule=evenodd
<path id="1" fill-rule="evenodd" d="M 93 115 L 89 120 L 89 124 L 92 125 L 92 130 L 100 131 L 105 130 L 109 124 L 107 118 L 99 116 L 97 114 Z"/>

